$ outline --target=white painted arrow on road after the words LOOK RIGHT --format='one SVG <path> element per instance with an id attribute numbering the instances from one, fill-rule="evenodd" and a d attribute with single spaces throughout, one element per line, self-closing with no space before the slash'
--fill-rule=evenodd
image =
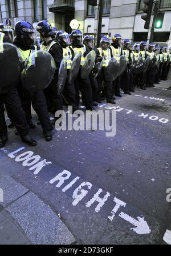
<path id="1" fill-rule="evenodd" d="M 136 219 L 132 218 L 131 216 L 123 212 L 119 214 L 119 217 L 125 219 L 125 221 L 128 221 L 132 225 L 136 226 L 132 227 L 131 229 L 133 229 L 133 231 L 135 231 L 139 235 L 149 234 L 151 232 L 144 218 L 137 217 L 137 221 Z"/>

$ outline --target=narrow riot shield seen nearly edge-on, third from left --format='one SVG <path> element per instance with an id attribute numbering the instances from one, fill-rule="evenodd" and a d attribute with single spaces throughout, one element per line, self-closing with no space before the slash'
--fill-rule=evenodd
<path id="1" fill-rule="evenodd" d="M 63 91 L 64 85 L 67 79 L 67 62 L 66 59 L 63 58 L 62 62 L 60 62 L 59 73 L 58 73 L 58 83 L 57 83 L 57 93 L 60 95 Z"/>

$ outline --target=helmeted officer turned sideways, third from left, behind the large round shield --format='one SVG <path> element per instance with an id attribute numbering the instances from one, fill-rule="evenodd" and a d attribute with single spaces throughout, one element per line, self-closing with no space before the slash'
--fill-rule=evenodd
<path id="1" fill-rule="evenodd" d="M 63 110 L 62 94 L 59 93 L 57 90 L 58 73 L 60 62 L 63 59 L 63 49 L 59 45 L 59 43 L 53 39 L 54 33 L 52 31 L 52 26 L 49 22 L 39 21 L 36 26 L 36 30 L 39 32 L 42 41 L 42 46 L 40 47 L 40 49 L 48 51 L 48 53 L 50 53 L 54 58 L 56 64 L 54 78 L 52 79 L 50 85 L 48 85 L 46 89 L 44 89 L 48 110 L 52 110 L 53 107 L 55 113 L 58 110 Z"/>

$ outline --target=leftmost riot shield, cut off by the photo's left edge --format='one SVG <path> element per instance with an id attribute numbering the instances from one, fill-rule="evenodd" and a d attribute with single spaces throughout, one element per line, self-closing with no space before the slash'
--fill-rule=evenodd
<path id="1" fill-rule="evenodd" d="M 16 46 L 11 43 L 0 45 L 0 90 L 19 82 L 24 61 L 21 51 Z"/>

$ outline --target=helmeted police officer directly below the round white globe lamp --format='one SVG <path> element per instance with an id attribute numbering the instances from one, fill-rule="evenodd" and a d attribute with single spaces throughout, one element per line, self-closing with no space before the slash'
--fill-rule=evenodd
<path id="1" fill-rule="evenodd" d="M 69 71 L 71 69 L 72 59 L 74 58 L 74 54 L 68 47 L 69 45 L 71 45 L 70 37 L 68 33 L 60 30 L 56 33 L 56 41 L 58 41 L 60 47 L 62 47 L 63 58 L 66 59 L 67 70 Z M 76 105 L 74 81 L 69 83 L 67 79 L 66 85 L 64 87 L 64 93 L 66 94 L 68 105 L 72 106 L 72 111 L 74 112 L 78 108 L 78 106 Z"/>

